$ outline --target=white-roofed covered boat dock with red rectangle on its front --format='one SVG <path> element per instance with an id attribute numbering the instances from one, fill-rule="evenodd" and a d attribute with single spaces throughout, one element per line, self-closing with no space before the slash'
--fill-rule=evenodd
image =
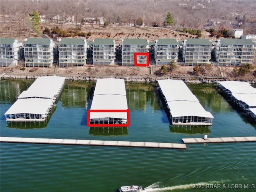
<path id="1" fill-rule="evenodd" d="M 97 80 L 88 119 L 90 119 L 88 126 L 127 124 L 128 105 L 124 80 L 112 78 Z"/>

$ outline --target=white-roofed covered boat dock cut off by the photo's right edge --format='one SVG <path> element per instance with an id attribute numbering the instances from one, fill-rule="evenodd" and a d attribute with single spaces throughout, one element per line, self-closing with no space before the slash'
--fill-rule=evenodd
<path id="1" fill-rule="evenodd" d="M 220 81 L 219 88 L 256 121 L 256 88 L 239 81 Z"/>

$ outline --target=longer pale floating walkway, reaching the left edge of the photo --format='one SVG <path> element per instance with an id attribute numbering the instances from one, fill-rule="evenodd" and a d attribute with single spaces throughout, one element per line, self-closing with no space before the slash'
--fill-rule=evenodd
<path id="1" fill-rule="evenodd" d="M 181 144 L 181 143 L 136 142 L 136 141 L 103 141 L 103 140 L 80 140 L 80 139 L 0 137 L 0 142 L 186 149 L 186 144 Z"/>

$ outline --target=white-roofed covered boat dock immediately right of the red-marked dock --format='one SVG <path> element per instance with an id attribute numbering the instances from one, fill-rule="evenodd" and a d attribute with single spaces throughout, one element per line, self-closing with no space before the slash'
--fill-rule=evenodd
<path id="1" fill-rule="evenodd" d="M 158 80 L 159 91 L 173 125 L 211 126 L 213 116 L 181 80 Z"/>

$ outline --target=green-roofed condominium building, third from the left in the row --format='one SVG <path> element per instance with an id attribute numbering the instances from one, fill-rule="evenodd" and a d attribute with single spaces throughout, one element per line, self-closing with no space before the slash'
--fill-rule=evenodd
<path id="1" fill-rule="evenodd" d="M 60 39 L 59 66 L 83 66 L 86 64 L 86 48 L 86 39 Z"/>

